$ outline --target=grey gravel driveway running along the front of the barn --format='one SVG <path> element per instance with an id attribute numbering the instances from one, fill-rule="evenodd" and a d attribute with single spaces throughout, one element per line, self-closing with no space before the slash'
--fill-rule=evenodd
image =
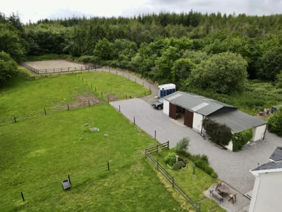
<path id="1" fill-rule="evenodd" d="M 253 189 L 255 177 L 249 170 L 257 167 L 258 163 L 268 161 L 270 154 L 277 145 L 282 145 L 282 139 L 274 134 L 266 133 L 266 142 L 259 142 L 253 146 L 247 146 L 240 152 L 231 152 L 215 146 L 212 142 L 203 140 L 201 136 L 187 127 L 181 127 L 163 114 L 139 98 L 111 102 L 113 107 L 148 134 L 155 136 L 160 143 L 170 141 L 170 147 L 174 147 L 184 136 L 191 138 L 188 151 L 192 154 L 206 154 L 209 164 L 218 173 L 219 178 L 231 187 L 245 194 Z"/>

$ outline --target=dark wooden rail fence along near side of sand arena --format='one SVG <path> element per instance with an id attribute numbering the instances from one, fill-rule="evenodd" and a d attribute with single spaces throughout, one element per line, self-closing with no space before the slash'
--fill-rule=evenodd
<path id="1" fill-rule="evenodd" d="M 94 66 L 78 66 L 78 67 L 67 67 L 67 68 L 57 68 L 57 69 L 35 69 L 25 63 L 21 63 L 21 65 L 33 71 L 36 74 L 50 74 L 50 73 L 58 73 L 58 72 L 82 71 L 82 70 L 94 69 Z"/>

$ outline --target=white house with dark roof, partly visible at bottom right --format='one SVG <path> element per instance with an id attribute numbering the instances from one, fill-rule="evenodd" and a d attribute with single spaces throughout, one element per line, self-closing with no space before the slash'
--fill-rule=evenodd
<path id="1" fill-rule="evenodd" d="M 256 177 L 249 212 L 280 212 L 282 198 L 282 147 L 270 156 L 270 162 L 250 172 Z"/>

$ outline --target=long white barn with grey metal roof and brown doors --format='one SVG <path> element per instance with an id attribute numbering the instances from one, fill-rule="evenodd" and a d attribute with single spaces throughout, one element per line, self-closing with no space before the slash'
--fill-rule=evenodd
<path id="1" fill-rule="evenodd" d="M 252 128 L 252 141 L 264 139 L 267 127 L 267 122 L 245 114 L 233 105 L 188 92 L 177 91 L 165 96 L 163 112 L 172 119 L 177 119 L 177 114 L 180 114 L 182 118 L 184 117 L 185 126 L 201 134 L 204 118 L 227 125 L 232 133 Z M 232 150 L 232 141 L 225 147 Z"/>

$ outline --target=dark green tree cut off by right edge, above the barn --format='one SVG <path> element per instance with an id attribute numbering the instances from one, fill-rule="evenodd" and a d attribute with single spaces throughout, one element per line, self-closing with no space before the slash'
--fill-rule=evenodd
<path id="1" fill-rule="evenodd" d="M 274 80 L 276 75 L 282 71 L 282 47 L 267 51 L 260 59 L 259 64 L 259 77 Z"/>

